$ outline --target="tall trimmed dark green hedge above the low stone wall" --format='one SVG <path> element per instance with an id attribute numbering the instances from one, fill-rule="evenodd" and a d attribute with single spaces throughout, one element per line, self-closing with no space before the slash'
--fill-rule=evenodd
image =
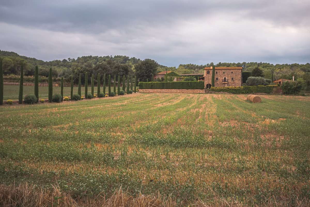
<path id="1" fill-rule="evenodd" d="M 204 89 L 203 81 L 140 82 L 139 89 Z"/>

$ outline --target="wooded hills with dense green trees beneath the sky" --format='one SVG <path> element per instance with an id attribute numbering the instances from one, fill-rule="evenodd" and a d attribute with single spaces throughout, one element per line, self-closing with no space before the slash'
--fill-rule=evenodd
<path id="1" fill-rule="evenodd" d="M 35 65 L 39 66 L 39 75 L 48 76 L 49 68 L 53 70 L 54 78 L 64 77 L 66 81 L 71 79 L 73 75 L 74 83 L 78 83 L 80 73 L 85 74 L 111 74 L 111 76 L 137 75 L 140 81 L 151 79 L 152 74 L 162 71 L 174 71 L 178 74 L 195 74 L 203 73 L 205 67 L 215 65 L 215 67 L 243 67 L 243 71 L 252 71 L 256 67 L 263 70 L 266 79 L 295 79 L 302 81 L 310 81 L 310 63 L 307 64 L 270 64 L 263 62 L 238 62 L 228 63 L 219 62 L 217 64 L 211 62 L 206 65 L 180 64 L 178 67 L 167 67 L 158 64 L 151 59 L 141 60 L 136 57 L 128 56 L 82 56 L 78 58 L 68 58 L 63 60 L 42 61 L 36 58 L 20 56 L 15 52 L 7 52 L 0 50 L 0 57 L 3 62 L 3 74 L 10 75 L 20 74 L 20 65 L 24 65 L 24 75 L 34 75 Z M 82 75 L 82 80 L 85 77 Z"/>

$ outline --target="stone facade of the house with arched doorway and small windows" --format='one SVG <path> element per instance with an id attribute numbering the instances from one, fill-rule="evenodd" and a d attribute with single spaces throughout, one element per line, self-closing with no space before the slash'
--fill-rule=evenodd
<path id="1" fill-rule="evenodd" d="M 241 86 L 242 84 L 242 67 L 215 67 L 215 87 Z M 204 74 L 205 87 L 211 87 L 212 67 L 205 68 Z M 210 84 L 210 85 L 209 85 Z"/>

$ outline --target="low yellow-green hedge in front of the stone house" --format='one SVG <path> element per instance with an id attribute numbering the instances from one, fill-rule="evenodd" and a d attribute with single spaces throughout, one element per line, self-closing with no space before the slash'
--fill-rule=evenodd
<path id="1" fill-rule="evenodd" d="M 274 85 L 268 86 L 237 86 L 237 87 L 211 87 L 211 91 L 228 92 L 234 94 L 248 94 L 248 93 L 271 93 Z"/>

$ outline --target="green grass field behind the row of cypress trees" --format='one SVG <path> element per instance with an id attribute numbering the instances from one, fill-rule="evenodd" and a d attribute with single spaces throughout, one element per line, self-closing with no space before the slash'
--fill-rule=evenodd
<path id="1" fill-rule="evenodd" d="M 19 94 L 19 86 L 15 85 L 4 85 L 3 88 L 4 94 L 3 94 L 3 100 L 6 101 L 8 99 L 17 100 L 18 94 Z M 85 88 L 81 88 L 82 95 L 84 95 Z M 103 87 L 100 88 L 100 91 L 103 92 Z M 108 90 L 106 90 L 108 91 Z M 88 87 L 88 92 L 91 92 L 91 87 Z M 23 89 L 23 98 L 25 95 L 34 93 L 34 86 L 24 86 Z M 53 94 L 59 93 L 60 94 L 60 87 L 53 87 Z M 64 87 L 64 96 L 70 96 L 71 93 L 71 87 Z M 78 87 L 73 88 L 73 94 L 78 93 Z M 97 87 L 95 87 L 95 93 L 97 93 Z M 46 99 L 48 98 L 48 87 L 39 87 L 39 99 Z"/>

